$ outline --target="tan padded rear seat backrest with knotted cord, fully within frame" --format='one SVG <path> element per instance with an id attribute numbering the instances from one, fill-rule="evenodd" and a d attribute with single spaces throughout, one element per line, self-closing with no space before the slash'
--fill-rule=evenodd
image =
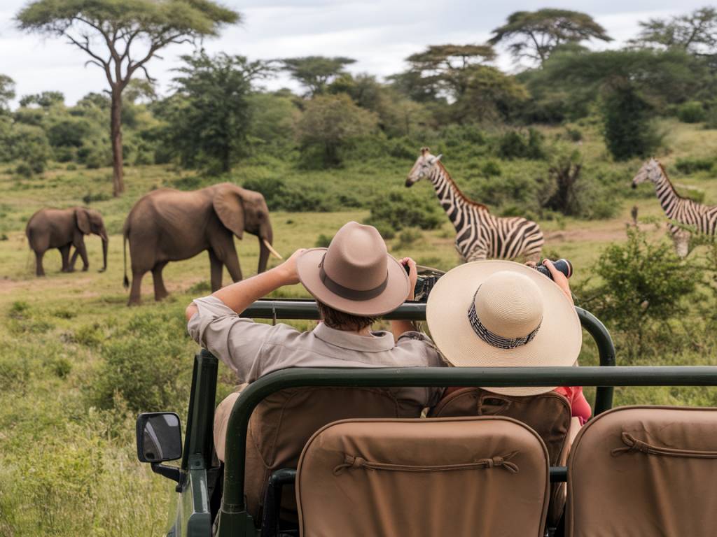
<path id="1" fill-rule="evenodd" d="M 300 533 L 542 537 L 548 455 L 505 417 L 344 420 L 298 466 Z"/>

